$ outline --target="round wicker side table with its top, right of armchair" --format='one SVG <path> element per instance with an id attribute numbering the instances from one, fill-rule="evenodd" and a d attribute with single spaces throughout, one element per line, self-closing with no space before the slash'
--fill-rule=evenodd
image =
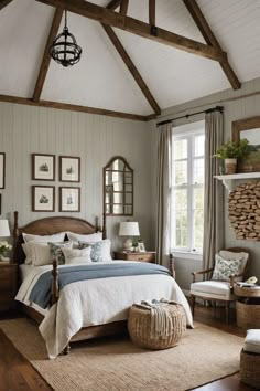
<path id="1" fill-rule="evenodd" d="M 260 328 L 260 287 L 234 286 L 238 296 L 236 302 L 237 326 L 249 329 Z"/>

